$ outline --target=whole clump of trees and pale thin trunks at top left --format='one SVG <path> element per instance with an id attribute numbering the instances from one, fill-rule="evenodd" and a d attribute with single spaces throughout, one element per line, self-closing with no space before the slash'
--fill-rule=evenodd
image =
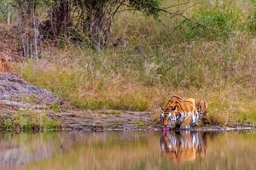
<path id="1" fill-rule="evenodd" d="M 68 37 L 81 31 L 92 48 L 100 51 L 112 37 L 113 20 L 120 10 L 142 11 L 157 17 L 160 0 L 10 0 L 18 11 L 20 42 L 24 56 L 38 59 L 42 38 Z M 38 7 L 47 7 L 47 20 L 40 21 Z M 43 8 L 44 9 L 44 8 Z M 49 10 L 50 9 L 50 10 Z"/>

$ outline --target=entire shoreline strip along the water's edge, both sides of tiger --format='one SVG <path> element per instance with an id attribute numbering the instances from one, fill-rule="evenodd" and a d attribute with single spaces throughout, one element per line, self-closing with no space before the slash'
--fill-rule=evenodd
<path id="1" fill-rule="evenodd" d="M 29 122 L 33 116 L 38 116 L 38 111 L 25 113 L 9 113 L 2 115 L 2 132 L 135 132 L 151 131 L 160 132 L 162 126 L 154 122 L 153 113 L 150 111 L 115 111 L 115 110 L 80 110 L 67 112 L 49 111 L 44 116 L 49 122 L 44 124 L 15 124 L 17 120 Z M 19 115 L 19 119 L 12 120 Z M 11 125 L 6 127 L 6 121 L 12 120 Z M 33 119 L 32 119 L 33 120 Z M 34 120 L 33 120 L 34 121 Z M 57 123 L 58 122 L 58 123 Z M 50 125 L 50 126 L 49 126 Z M 256 125 L 235 123 L 230 125 L 211 125 L 204 124 L 198 127 L 190 127 L 187 130 L 177 128 L 169 129 L 170 132 L 189 131 L 189 132 L 230 132 L 256 130 Z"/>

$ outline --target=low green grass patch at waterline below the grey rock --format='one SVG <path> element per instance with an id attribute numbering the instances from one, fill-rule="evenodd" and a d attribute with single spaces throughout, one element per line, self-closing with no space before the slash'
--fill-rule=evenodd
<path id="1" fill-rule="evenodd" d="M 0 127 L 4 131 L 48 131 L 60 127 L 60 122 L 52 120 L 44 111 L 17 111 L 4 119 Z"/>

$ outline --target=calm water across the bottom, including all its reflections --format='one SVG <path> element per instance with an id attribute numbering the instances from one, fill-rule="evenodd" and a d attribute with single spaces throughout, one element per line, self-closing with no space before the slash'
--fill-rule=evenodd
<path id="1" fill-rule="evenodd" d="M 0 137 L 0 169 L 255 169 L 256 132 L 20 133 Z"/>

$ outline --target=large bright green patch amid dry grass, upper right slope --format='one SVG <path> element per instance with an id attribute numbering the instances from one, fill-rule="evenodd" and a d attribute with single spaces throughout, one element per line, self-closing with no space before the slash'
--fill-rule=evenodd
<path id="1" fill-rule="evenodd" d="M 235 31 L 239 20 L 239 12 L 236 8 L 200 8 L 192 14 L 192 20 L 184 20 L 186 39 L 206 38 L 216 40 L 227 38 Z"/>

